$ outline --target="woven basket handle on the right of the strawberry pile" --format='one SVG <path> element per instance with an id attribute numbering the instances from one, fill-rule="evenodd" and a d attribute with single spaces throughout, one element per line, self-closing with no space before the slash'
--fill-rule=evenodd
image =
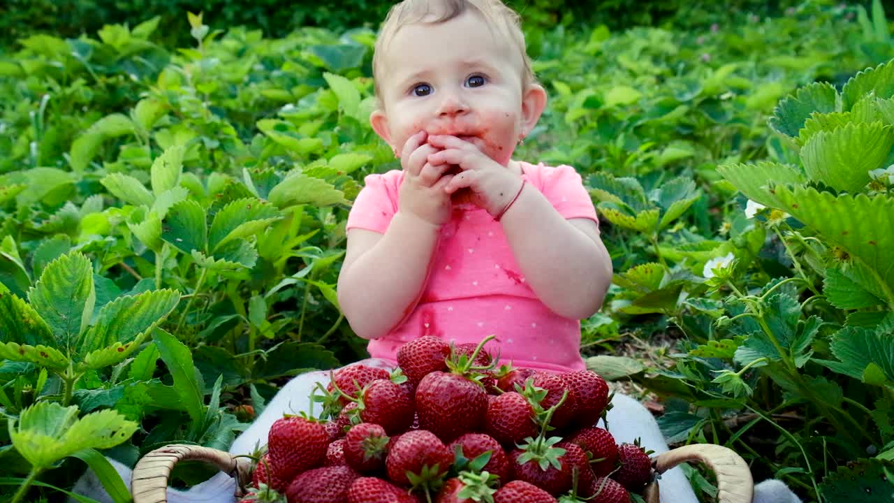
<path id="1" fill-rule="evenodd" d="M 720 503 L 752 503 L 755 482 L 745 460 L 730 448 L 715 444 L 693 444 L 671 449 L 655 456 L 652 465 L 658 473 L 664 473 L 680 463 L 701 461 L 717 476 L 717 500 Z M 658 503 L 658 484 L 652 482 L 646 488 L 645 500 Z"/>

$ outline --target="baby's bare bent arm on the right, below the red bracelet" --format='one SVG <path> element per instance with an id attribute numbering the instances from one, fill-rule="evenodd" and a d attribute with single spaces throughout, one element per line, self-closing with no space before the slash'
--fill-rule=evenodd
<path id="1" fill-rule="evenodd" d="M 526 184 L 500 222 L 527 284 L 547 307 L 572 320 L 599 311 L 611 283 L 611 258 L 595 221 L 566 220 Z"/>

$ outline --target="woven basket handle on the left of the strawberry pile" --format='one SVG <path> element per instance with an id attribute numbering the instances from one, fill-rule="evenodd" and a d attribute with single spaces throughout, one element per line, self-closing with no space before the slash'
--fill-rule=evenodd
<path id="1" fill-rule="evenodd" d="M 174 465 L 183 460 L 205 461 L 236 479 L 235 497 L 251 482 L 251 462 L 245 457 L 213 448 L 171 444 L 143 456 L 133 468 L 131 494 L 133 503 L 167 503 L 167 485 Z"/>

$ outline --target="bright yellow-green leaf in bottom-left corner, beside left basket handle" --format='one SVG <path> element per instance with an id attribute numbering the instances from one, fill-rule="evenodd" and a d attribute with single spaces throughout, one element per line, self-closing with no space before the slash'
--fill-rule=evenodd
<path id="1" fill-rule="evenodd" d="M 83 449 L 113 448 L 137 431 L 135 422 L 113 410 L 77 416 L 77 406 L 39 402 L 22 411 L 18 424 L 9 420 L 10 439 L 31 465 L 46 468 Z"/>

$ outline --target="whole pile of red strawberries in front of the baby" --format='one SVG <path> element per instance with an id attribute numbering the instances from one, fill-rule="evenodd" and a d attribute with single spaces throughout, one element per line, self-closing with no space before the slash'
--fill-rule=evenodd
<path id="1" fill-rule="evenodd" d="M 289 503 L 628 503 L 652 480 L 643 448 L 595 427 L 611 397 L 593 371 L 496 364 L 484 345 L 420 337 L 399 369 L 333 373 L 325 419 L 285 416 L 243 500 Z"/>

